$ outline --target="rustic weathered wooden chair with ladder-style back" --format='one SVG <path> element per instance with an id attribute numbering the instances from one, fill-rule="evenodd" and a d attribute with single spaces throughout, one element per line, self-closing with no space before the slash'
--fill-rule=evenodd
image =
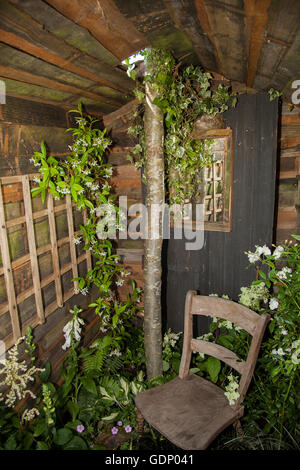
<path id="1" fill-rule="evenodd" d="M 193 315 L 218 317 L 237 324 L 251 334 L 246 361 L 223 346 L 193 339 Z M 239 422 L 241 406 L 255 369 L 260 344 L 269 321 L 230 300 L 197 295 L 189 291 L 185 301 L 184 342 L 179 376 L 136 395 L 135 403 L 148 423 L 177 447 L 203 450 L 230 424 Z M 224 390 L 189 372 L 192 351 L 214 356 L 241 374 L 239 399 L 234 405 Z"/>

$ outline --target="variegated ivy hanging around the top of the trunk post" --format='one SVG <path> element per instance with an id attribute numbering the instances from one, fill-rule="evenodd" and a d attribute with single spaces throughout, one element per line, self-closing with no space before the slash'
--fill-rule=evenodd
<path id="1" fill-rule="evenodd" d="M 146 49 L 142 52 L 145 61 L 143 79 L 133 65 L 127 61 L 128 75 L 136 80 L 134 91 L 140 101 L 134 113 L 134 124 L 128 133 L 138 138 L 128 159 L 136 168 L 144 166 L 145 135 L 144 106 L 145 83 L 149 82 L 157 91 L 154 104 L 164 114 L 165 140 L 165 182 L 167 197 L 171 204 L 181 204 L 198 196 L 199 173 L 204 166 L 210 166 L 214 155 L 212 140 L 195 140 L 192 136 L 195 121 L 203 115 L 216 116 L 228 109 L 229 102 L 235 106 L 235 93 L 229 87 L 212 86 L 212 76 L 199 66 L 183 66 L 172 54 L 163 49 Z M 146 180 L 145 175 L 144 180 Z"/>

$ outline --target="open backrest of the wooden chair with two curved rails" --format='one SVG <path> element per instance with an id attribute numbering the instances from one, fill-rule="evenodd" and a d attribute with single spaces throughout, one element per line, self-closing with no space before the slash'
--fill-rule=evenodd
<path id="1" fill-rule="evenodd" d="M 205 315 L 229 320 L 252 336 L 248 357 L 245 361 L 232 351 L 218 344 L 193 338 L 193 315 Z M 255 369 L 261 341 L 269 322 L 270 315 L 258 315 L 252 310 L 231 300 L 218 297 L 197 295 L 188 291 L 185 300 L 184 341 L 179 369 L 179 377 L 185 379 L 189 374 L 192 351 L 208 354 L 222 360 L 241 374 L 239 394 L 234 407 L 238 407 L 247 393 Z"/>

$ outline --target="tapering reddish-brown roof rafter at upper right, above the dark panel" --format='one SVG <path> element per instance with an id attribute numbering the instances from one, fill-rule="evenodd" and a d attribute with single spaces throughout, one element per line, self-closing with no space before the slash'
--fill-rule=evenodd
<path id="1" fill-rule="evenodd" d="M 258 61 L 264 42 L 265 28 L 268 22 L 267 10 L 271 4 L 271 0 L 245 0 L 246 13 L 246 35 L 247 44 L 249 45 L 248 54 L 248 72 L 247 86 L 252 87 L 257 68 Z"/>

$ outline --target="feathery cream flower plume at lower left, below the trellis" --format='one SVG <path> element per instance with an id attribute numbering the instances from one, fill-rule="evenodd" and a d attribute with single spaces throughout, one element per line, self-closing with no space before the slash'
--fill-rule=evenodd
<path id="1" fill-rule="evenodd" d="M 25 361 L 19 362 L 18 346 L 24 338 L 24 336 L 19 338 L 11 350 L 8 351 L 8 358 L 5 360 L 4 367 L 0 369 L 0 375 L 5 376 L 4 380 L 0 381 L 0 386 L 4 385 L 9 389 L 5 397 L 5 404 L 10 408 L 15 406 L 17 399 L 22 400 L 27 394 L 31 398 L 36 398 L 32 391 L 26 387 L 28 382 L 34 382 L 34 375 L 37 372 L 44 371 L 44 369 L 38 369 L 34 366 L 28 369 Z M 1 394 L 0 400 L 3 400 Z"/>

